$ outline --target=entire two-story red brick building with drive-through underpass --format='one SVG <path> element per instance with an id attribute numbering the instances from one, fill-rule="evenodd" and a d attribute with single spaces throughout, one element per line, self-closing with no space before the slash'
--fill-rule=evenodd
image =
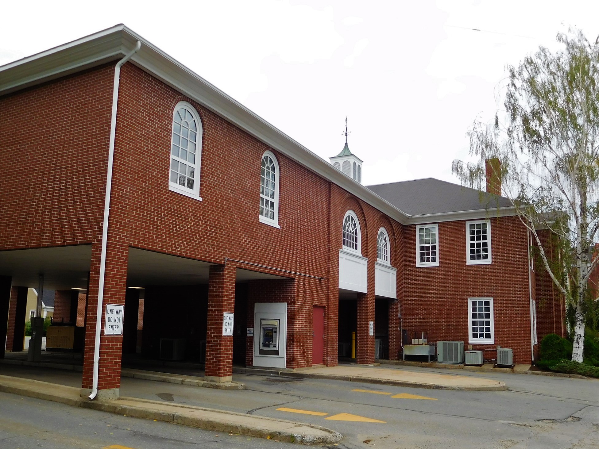
<path id="1" fill-rule="evenodd" d="M 531 362 L 545 312 L 505 199 L 364 187 L 347 145 L 331 162 L 123 25 L 2 66 L 0 326 L 42 274 L 68 319 L 85 307 L 82 392 L 99 398 L 138 321 L 143 356 L 205 361 L 216 381 L 234 362 L 395 359 L 401 329 Z"/>

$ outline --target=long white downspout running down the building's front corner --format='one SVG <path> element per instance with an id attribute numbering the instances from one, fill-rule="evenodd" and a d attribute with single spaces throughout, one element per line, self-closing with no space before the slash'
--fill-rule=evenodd
<path id="1" fill-rule="evenodd" d="M 102 307 L 104 302 L 104 277 L 106 273 L 106 248 L 108 245 L 108 214 L 110 213 L 110 191 L 112 187 L 112 171 L 114 162 L 114 136 L 116 135 L 116 110 L 119 104 L 119 81 L 120 68 L 141 47 L 137 41 L 135 48 L 123 59 L 117 62 L 114 68 L 113 105 L 110 118 L 110 144 L 108 145 L 108 168 L 106 172 L 106 196 L 104 198 L 104 223 L 102 224 L 102 253 L 100 255 L 100 277 L 98 285 L 98 311 L 96 314 L 96 341 L 93 347 L 93 384 L 92 394 L 89 399 L 95 399 L 98 395 L 98 371 L 100 360 L 100 332 L 102 327 Z"/>

